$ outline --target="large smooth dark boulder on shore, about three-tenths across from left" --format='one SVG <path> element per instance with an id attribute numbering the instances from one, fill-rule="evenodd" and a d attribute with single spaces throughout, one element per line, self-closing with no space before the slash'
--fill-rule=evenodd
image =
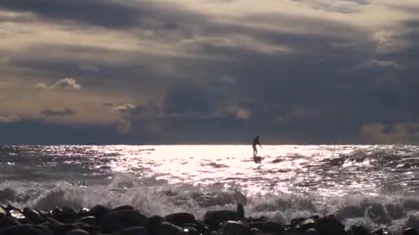
<path id="1" fill-rule="evenodd" d="M 105 215 L 101 220 L 101 227 L 105 233 L 119 232 L 127 227 L 144 226 L 147 216 L 138 210 L 116 210 Z"/>

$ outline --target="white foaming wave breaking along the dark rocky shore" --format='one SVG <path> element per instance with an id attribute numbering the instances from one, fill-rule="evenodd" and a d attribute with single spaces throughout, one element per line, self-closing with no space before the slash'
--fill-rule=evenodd
<path id="1" fill-rule="evenodd" d="M 210 187 L 211 188 L 211 187 Z M 152 215 L 190 212 L 201 217 L 207 210 L 236 208 L 243 203 L 247 216 L 265 216 L 283 223 L 313 214 L 336 214 L 347 226 L 369 229 L 386 226 L 393 232 L 403 227 L 419 229 L 419 198 L 416 194 L 319 198 L 315 195 L 265 194 L 246 196 L 240 190 L 210 190 L 187 184 L 172 185 L 156 179 L 116 175 L 106 184 L 74 185 L 65 181 L 41 185 L 5 181 L 0 184 L 0 204 L 52 210 L 55 207 L 91 208 L 96 204 L 132 205 Z"/>

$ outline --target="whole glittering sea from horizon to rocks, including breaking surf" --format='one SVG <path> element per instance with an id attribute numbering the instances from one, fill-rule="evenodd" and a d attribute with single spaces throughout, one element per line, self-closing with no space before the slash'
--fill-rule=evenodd
<path id="1" fill-rule="evenodd" d="M 419 227 L 419 146 L 1 146 L 0 205 L 52 210 L 133 205 L 165 215 L 245 205 L 289 223 Z"/>

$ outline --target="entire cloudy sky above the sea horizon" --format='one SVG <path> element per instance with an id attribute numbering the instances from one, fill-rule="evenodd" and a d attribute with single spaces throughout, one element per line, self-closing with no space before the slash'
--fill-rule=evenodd
<path id="1" fill-rule="evenodd" d="M 417 144 L 417 0 L 1 0 L 0 144 Z"/>

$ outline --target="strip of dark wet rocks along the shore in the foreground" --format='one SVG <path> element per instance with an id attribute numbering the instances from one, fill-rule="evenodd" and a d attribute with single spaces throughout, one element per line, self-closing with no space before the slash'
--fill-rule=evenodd
<path id="1" fill-rule="evenodd" d="M 130 205 L 107 208 L 96 205 L 79 211 L 56 208 L 43 212 L 30 208 L 0 207 L 0 235 L 382 235 L 385 228 L 369 231 L 354 225 L 345 228 L 335 216 L 296 218 L 288 225 L 267 218 L 250 218 L 240 203 L 237 210 L 208 211 L 202 219 L 184 212 L 145 216 Z M 402 235 L 417 235 L 407 227 Z"/>

